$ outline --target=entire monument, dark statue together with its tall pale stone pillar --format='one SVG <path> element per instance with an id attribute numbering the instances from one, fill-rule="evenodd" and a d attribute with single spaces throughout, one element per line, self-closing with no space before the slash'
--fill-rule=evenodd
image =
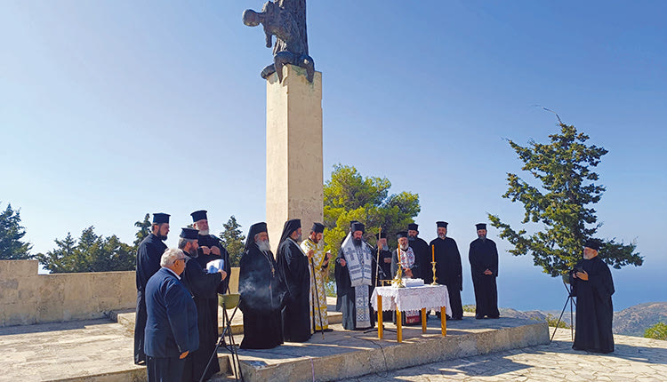
<path id="1" fill-rule="evenodd" d="M 267 80 L 266 222 L 274 253 L 287 219 L 301 219 L 304 236 L 323 222 L 322 73 L 308 56 L 305 0 L 276 0 L 262 12 L 246 10 L 244 23 L 261 23 L 274 64 Z M 279 8 L 277 10 L 276 8 Z M 285 24 L 291 24 L 285 33 Z"/>

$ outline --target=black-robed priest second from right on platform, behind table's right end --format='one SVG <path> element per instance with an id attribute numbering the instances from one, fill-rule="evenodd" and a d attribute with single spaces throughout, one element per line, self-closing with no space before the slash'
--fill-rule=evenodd
<path id="1" fill-rule="evenodd" d="M 447 286 L 452 319 L 463 319 L 461 291 L 463 290 L 463 269 L 459 247 L 451 237 L 447 237 L 447 222 L 437 221 L 438 237 L 430 242 L 436 260 L 436 283 Z"/>

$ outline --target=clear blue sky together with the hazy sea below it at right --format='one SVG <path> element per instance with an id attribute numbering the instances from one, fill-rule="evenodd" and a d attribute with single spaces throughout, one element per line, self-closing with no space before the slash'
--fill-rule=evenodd
<path id="1" fill-rule="evenodd" d="M 95 226 L 132 243 L 147 212 L 189 212 L 214 231 L 264 219 L 260 1 L 0 4 L 0 208 L 20 208 L 34 252 Z M 419 4 L 419 5 L 416 5 Z M 600 235 L 637 240 L 645 266 L 614 271 L 615 308 L 665 300 L 667 4 L 309 1 L 323 73 L 325 179 L 333 164 L 420 195 L 430 240 L 450 223 L 463 253 L 520 163 L 503 139 L 545 141 L 566 123 L 609 154 Z M 661 164 L 662 163 L 662 164 Z M 557 280 L 502 251 L 500 305 L 560 309 Z M 471 303 L 465 277 L 463 299 Z"/>

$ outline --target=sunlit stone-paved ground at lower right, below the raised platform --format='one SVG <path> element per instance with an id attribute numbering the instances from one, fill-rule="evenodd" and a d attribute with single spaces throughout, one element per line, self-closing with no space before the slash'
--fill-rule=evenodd
<path id="1" fill-rule="evenodd" d="M 553 328 L 551 328 L 553 330 Z M 346 381 L 667 381 L 667 341 L 615 335 L 615 352 L 572 349 L 570 330 L 558 330 L 550 345 L 372 374 Z"/>

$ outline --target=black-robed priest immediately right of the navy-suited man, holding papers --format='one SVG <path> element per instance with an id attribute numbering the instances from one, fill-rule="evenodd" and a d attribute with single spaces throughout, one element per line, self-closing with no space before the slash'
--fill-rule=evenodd
<path id="1" fill-rule="evenodd" d="M 183 382 L 198 382 L 204 374 L 204 370 L 206 370 L 204 380 L 211 378 L 213 374 L 220 371 L 218 362 L 211 362 L 206 369 L 206 364 L 218 342 L 216 334 L 218 329 L 218 306 L 214 306 L 215 311 L 212 312 L 209 301 L 211 298 L 217 299 L 216 290 L 220 282 L 227 278 L 227 272 L 224 269 L 219 269 L 215 273 L 207 273 L 195 260 L 198 256 L 197 233 L 197 229 L 194 228 L 181 228 L 181 238 L 179 239 L 179 249 L 187 257 L 182 283 L 188 288 L 195 301 L 195 306 L 197 306 L 197 330 L 199 330 L 199 348 L 190 352 L 185 359 Z"/>

